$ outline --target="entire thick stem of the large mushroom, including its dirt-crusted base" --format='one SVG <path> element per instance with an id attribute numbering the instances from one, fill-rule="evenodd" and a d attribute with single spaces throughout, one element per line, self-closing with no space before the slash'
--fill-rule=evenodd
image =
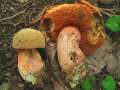
<path id="1" fill-rule="evenodd" d="M 63 28 L 57 39 L 58 61 L 72 88 L 79 83 L 81 77 L 86 73 L 84 67 L 85 55 L 79 48 L 80 40 L 79 30 L 71 26 Z"/>

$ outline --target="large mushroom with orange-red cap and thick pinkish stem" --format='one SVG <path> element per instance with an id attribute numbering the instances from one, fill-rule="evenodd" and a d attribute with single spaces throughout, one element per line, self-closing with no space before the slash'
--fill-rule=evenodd
<path id="1" fill-rule="evenodd" d="M 81 0 L 48 8 L 40 29 L 48 41 L 57 43 L 57 56 L 65 80 L 73 88 L 86 76 L 85 56 L 96 51 L 105 40 L 100 10 Z"/>

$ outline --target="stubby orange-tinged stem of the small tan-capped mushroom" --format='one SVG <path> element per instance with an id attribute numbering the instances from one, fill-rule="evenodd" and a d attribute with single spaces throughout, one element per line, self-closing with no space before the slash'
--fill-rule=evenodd
<path id="1" fill-rule="evenodd" d="M 22 49 L 18 53 L 18 69 L 22 78 L 34 84 L 42 84 L 45 64 L 36 49 Z"/>

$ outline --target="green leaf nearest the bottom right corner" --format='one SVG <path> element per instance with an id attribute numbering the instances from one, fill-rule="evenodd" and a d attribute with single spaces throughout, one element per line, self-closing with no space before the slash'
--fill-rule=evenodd
<path id="1" fill-rule="evenodd" d="M 104 90 L 115 90 L 116 82 L 111 75 L 107 75 L 102 81 L 102 86 Z"/>

